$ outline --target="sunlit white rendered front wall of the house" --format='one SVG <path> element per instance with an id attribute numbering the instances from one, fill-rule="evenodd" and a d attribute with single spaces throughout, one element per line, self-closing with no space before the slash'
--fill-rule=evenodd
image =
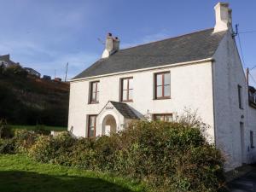
<path id="1" fill-rule="evenodd" d="M 154 100 L 154 73 L 166 71 L 171 73 L 171 99 Z M 214 142 L 211 61 L 71 82 L 68 129 L 73 126 L 76 136 L 86 137 L 87 115 L 100 113 L 108 101 L 119 102 L 120 79 L 127 77 L 133 77 L 134 84 L 133 102 L 127 104 L 137 114 L 183 113 L 184 108 L 197 110 L 202 120 L 211 125 L 209 141 Z M 100 81 L 99 103 L 88 104 L 89 84 L 95 80 Z M 96 133 L 98 135 L 98 131 Z"/>

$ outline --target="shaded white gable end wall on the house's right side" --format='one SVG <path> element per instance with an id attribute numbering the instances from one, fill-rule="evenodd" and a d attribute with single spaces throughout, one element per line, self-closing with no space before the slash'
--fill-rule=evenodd
<path id="1" fill-rule="evenodd" d="M 236 43 L 230 32 L 227 32 L 213 57 L 216 144 L 223 149 L 228 161 L 226 169 L 229 170 L 248 162 L 247 156 L 251 153 L 248 148 L 248 127 L 256 131 L 256 116 L 255 112 L 252 114 L 254 109 L 248 110 L 247 83 Z M 239 108 L 238 84 L 242 87 L 243 109 Z M 244 157 L 241 156 L 241 122 L 245 133 Z"/>

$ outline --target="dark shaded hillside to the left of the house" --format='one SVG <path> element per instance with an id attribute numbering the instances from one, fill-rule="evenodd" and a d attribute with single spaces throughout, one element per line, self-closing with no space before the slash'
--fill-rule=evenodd
<path id="1" fill-rule="evenodd" d="M 0 119 L 15 125 L 67 126 L 69 84 L 0 70 Z"/>

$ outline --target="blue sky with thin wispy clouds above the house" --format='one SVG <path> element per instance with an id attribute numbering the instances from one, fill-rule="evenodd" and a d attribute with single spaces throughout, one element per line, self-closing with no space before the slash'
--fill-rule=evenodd
<path id="1" fill-rule="evenodd" d="M 256 30 L 256 1 L 228 1 L 240 32 Z M 214 26 L 215 0 L 0 0 L 0 55 L 68 78 L 102 55 L 107 32 L 122 48 Z M 256 32 L 241 33 L 244 67 L 256 65 Z M 256 80 L 256 70 L 252 71 Z M 252 82 L 253 83 L 253 82 Z"/>

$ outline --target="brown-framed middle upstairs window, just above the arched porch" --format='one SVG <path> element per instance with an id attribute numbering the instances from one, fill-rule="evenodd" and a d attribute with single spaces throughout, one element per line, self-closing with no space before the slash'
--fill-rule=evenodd
<path id="1" fill-rule="evenodd" d="M 133 99 L 133 79 L 121 79 L 121 101 L 132 102 Z"/>

